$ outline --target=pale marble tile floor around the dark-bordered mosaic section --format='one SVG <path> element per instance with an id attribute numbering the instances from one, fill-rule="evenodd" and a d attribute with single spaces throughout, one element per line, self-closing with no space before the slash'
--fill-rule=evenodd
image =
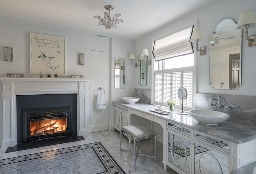
<path id="1" fill-rule="evenodd" d="M 163 160 L 163 144 L 157 142 L 157 159 L 156 164 L 153 158 L 138 156 L 136 161 L 136 170 L 133 168 L 133 154 L 130 152 L 122 152 L 120 155 L 120 132 L 119 131 L 102 131 L 94 132 L 84 136 L 85 140 L 57 144 L 52 146 L 33 148 L 30 150 L 21 150 L 16 152 L 4 153 L 7 148 L 0 148 L 0 159 L 11 158 L 15 156 L 27 155 L 32 153 L 44 152 L 46 150 L 56 150 L 59 148 L 66 148 L 70 146 L 78 146 L 81 144 L 88 144 L 92 142 L 101 142 L 102 145 L 108 150 L 110 155 L 116 160 L 120 167 L 126 174 L 177 174 L 171 168 L 167 171 L 164 170 Z M 128 142 L 128 138 L 122 136 L 122 148 L 132 150 L 133 143 Z M 153 154 L 154 153 L 154 140 L 141 141 L 141 152 Z"/>

